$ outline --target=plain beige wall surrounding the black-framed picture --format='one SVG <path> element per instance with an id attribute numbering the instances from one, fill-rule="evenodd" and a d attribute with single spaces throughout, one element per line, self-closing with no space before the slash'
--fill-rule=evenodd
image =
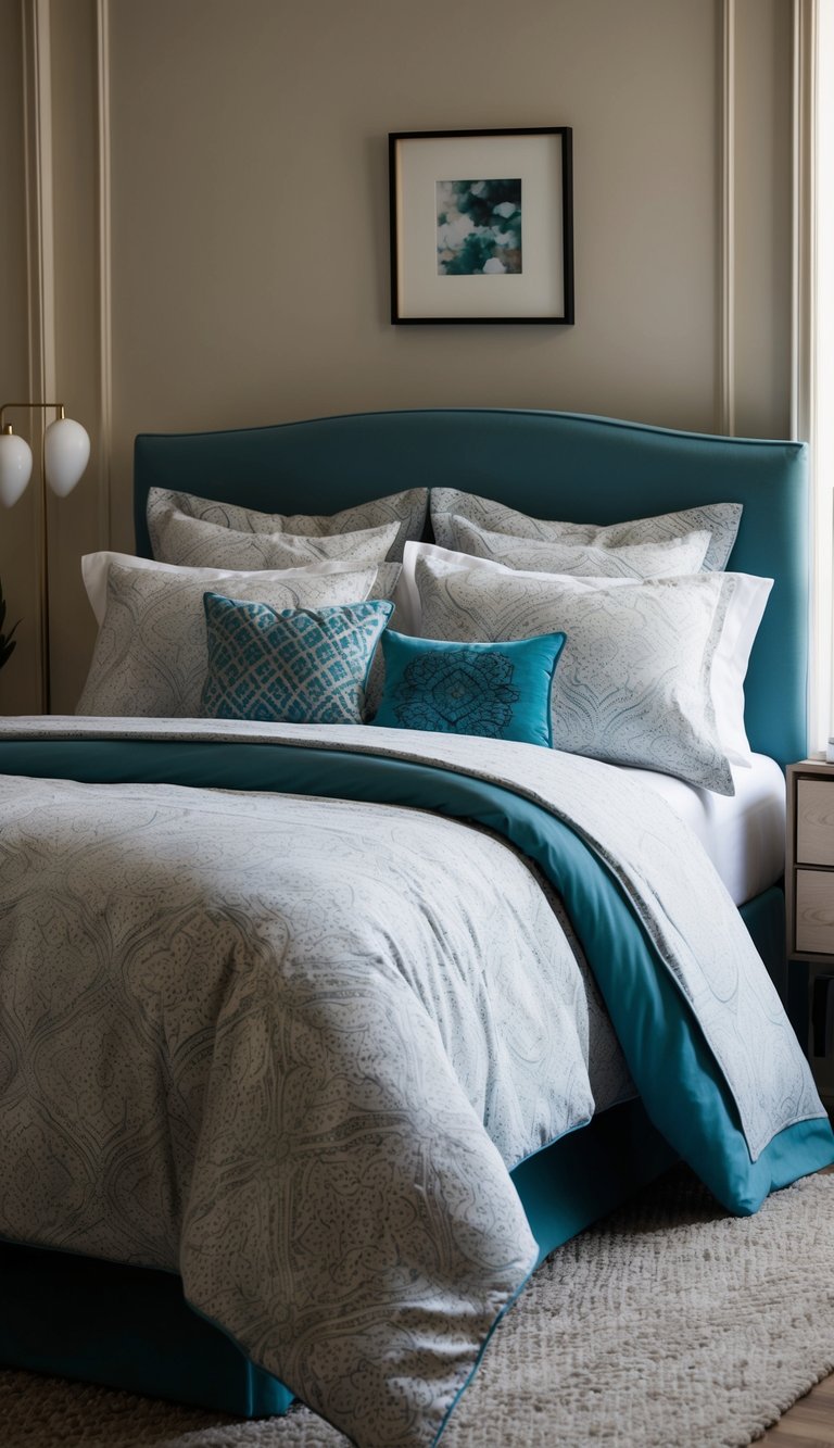
<path id="1" fill-rule="evenodd" d="M 733 10 L 730 381 L 736 430 L 776 436 L 791 0 Z M 96 447 L 54 565 L 55 707 L 72 707 L 90 649 L 78 553 L 109 511 L 114 546 L 132 543 L 136 432 L 453 404 L 721 426 L 723 22 L 718 0 L 52 0 L 56 278 L 72 298 L 56 355 Z M 392 327 L 387 133 L 546 125 L 573 127 L 576 324 Z M 4 530 L 3 576 L 7 555 Z"/>

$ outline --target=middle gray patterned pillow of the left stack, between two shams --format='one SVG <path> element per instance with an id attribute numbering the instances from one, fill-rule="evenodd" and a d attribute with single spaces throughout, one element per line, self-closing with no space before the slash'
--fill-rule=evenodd
<path id="1" fill-rule="evenodd" d="M 397 542 L 398 523 L 355 533 L 306 537 L 297 533 L 240 533 L 219 523 L 190 518 L 171 508 L 158 520 L 153 557 L 188 568 L 304 568 L 306 563 L 340 562 L 365 568 L 384 563 Z"/>

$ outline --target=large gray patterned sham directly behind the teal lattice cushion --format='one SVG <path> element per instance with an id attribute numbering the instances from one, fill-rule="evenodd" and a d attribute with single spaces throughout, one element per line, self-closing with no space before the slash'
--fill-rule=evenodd
<path id="1" fill-rule="evenodd" d="M 398 575 L 398 563 L 237 572 L 88 555 L 83 576 L 100 627 L 75 712 L 195 718 L 208 666 L 207 591 L 275 610 L 324 608 L 389 598 Z"/>

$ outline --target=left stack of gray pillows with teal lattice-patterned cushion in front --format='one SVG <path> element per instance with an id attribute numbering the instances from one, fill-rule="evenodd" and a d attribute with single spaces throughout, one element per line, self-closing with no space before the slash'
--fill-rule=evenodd
<path id="1" fill-rule="evenodd" d="M 152 488 L 153 560 L 93 553 L 98 637 L 78 714 L 356 724 L 429 489 L 333 517 Z"/>

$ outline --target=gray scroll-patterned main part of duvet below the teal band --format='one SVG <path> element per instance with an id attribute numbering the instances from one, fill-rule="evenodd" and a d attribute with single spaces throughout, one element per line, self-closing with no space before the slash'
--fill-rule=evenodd
<path id="1" fill-rule="evenodd" d="M 469 741 L 471 743 L 471 741 Z M 423 811 L 0 778 L 0 1235 L 178 1270 L 427 1448 L 536 1247 L 507 1167 L 621 1056 L 533 872 Z"/>

